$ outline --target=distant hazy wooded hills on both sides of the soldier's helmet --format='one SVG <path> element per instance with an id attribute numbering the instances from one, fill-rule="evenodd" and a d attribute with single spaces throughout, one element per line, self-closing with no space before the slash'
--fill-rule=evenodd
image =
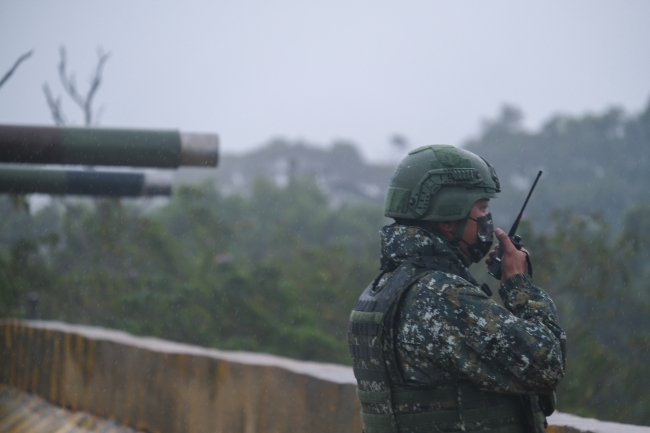
<path id="1" fill-rule="evenodd" d="M 505 106 L 463 144 L 497 169 L 502 194 L 491 210 L 507 228 L 523 204 L 538 170 L 543 170 L 526 218 L 547 228 L 555 209 L 601 214 L 619 224 L 624 211 L 650 202 L 650 104 L 637 115 L 619 109 L 572 117 L 557 115 L 539 131 L 524 130 L 520 110 Z M 313 176 L 334 206 L 382 203 L 394 166 L 368 164 L 353 144 L 329 148 L 282 140 L 244 155 L 224 155 L 215 171 L 181 169 L 178 183 L 212 178 L 226 194 L 247 194 L 263 177 L 277 186 L 292 176 Z"/>

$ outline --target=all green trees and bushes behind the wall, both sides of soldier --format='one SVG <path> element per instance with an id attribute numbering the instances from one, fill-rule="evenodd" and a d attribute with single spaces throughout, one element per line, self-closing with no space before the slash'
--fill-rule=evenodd
<path id="1" fill-rule="evenodd" d="M 520 234 L 568 335 L 559 409 L 650 425 L 650 107 L 558 117 L 537 134 L 512 114 L 469 145 L 502 176 L 501 221 L 523 200 L 516 176 L 546 170 Z M 259 178 L 241 194 L 207 182 L 147 211 L 59 198 L 30 214 L 0 198 L 0 315 L 26 317 L 35 292 L 43 319 L 349 364 L 349 311 L 378 271 L 387 221 L 377 201 L 333 200 L 321 181 Z"/>

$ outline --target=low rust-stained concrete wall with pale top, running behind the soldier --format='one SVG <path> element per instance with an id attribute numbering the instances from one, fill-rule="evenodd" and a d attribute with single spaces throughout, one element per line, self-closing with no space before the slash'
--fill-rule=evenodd
<path id="1" fill-rule="evenodd" d="M 352 369 L 89 326 L 0 321 L 0 383 L 151 432 L 361 432 Z M 549 433 L 650 433 L 556 413 Z"/>

